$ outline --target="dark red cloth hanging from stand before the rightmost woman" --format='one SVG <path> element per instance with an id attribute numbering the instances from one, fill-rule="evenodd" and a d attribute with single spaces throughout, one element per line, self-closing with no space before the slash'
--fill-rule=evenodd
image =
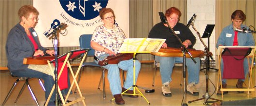
<path id="1" fill-rule="evenodd" d="M 243 48 L 225 48 L 222 53 L 224 64 L 223 79 L 244 79 L 243 61 L 245 56 L 250 54 L 251 49 Z"/>

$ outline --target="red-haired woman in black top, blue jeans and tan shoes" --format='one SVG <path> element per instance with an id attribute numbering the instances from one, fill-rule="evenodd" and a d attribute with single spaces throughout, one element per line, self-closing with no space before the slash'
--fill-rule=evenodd
<path id="1" fill-rule="evenodd" d="M 195 36 L 192 32 L 181 23 L 180 20 L 181 12 L 175 7 L 171 7 L 165 12 L 165 16 L 168 20 L 168 24 L 174 30 L 175 34 L 181 39 L 182 43 L 187 48 L 192 48 L 196 42 Z M 156 24 L 148 35 L 149 38 L 164 38 L 166 39 L 162 47 L 173 47 L 181 48 L 179 40 L 170 32 L 167 24 L 158 23 Z M 199 70 L 200 70 L 200 59 L 194 58 L 197 63 L 191 58 L 186 58 L 186 66 L 188 71 L 188 85 L 187 91 L 192 95 L 199 95 L 196 89 L 196 84 L 199 83 Z M 164 96 L 171 96 L 170 82 L 172 68 L 176 62 L 183 62 L 183 57 L 160 57 L 156 56 L 155 60 L 160 63 L 160 73 L 162 79 L 162 94 Z"/>

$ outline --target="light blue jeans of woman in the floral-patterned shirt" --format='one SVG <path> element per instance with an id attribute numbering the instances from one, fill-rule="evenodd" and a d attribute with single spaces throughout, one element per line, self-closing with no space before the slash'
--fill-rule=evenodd
<path id="1" fill-rule="evenodd" d="M 95 61 L 98 64 L 98 61 Z M 108 70 L 108 80 L 110 83 L 110 90 L 112 94 L 121 94 L 121 80 L 119 68 L 127 71 L 126 80 L 123 87 L 128 89 L 133 85 L 133 59 L 120 61 L 118 64 L 108 64 L 103 66 Z M 135 60 L 135 82 L 137 82 L 138 74 L 141 70 L 141 63 L 139 60 Z M 133 90 L 133 87 L 129 90 Z"/>

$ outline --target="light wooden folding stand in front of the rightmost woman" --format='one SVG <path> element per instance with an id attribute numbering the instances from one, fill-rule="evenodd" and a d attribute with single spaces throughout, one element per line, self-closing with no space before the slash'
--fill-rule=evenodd
<path id="1" fill-rule="evenodd" d="M 229 52 L 228 54 L 227 53 L 225 53 L 225 54 L 222 54 L 222 52 L 224 51 L 224 49 L 225 48 L 231 48 L 230 50 L 232 50 L 233 49 L 233 51 L 235 51 L 235 52 L 233 52 L 233 54 L 232 54 L 232 51 L 231 52 Z M 248 48 L 251 48 L 252 49 L 252 51 L 251 51 L 251 53 L 249 54 L 249 55 L 247 55 L 246 57 L 245 57 L 245 55 L 244 54 L 240 54 L 242 51 L 244 51 L 244 50 L 247 50 Z M 229 50 L 227 50 L 226 49 L 226 51 L 229 51 Z M 219 62 L 218 62 L 218 66 L 219 66 L 219 71 L 218 71 L 218 81 L 217 81 L 217 91 L 216 91 L 216 93 L 218 92 L 218 87 L 219 87 L 219 82 L 220 82 L 220 86 L 221 86 L 221 88 L 220 88 L 220 91 L 221 91 L 221 96 L 222 96 L 222 99 L 223 99 L 223 91 L 248 91 L 248 96 L 249 96 L 249 92 L 250 91 L 255 91 L 255 89 L 253 88 L 253 84 L 252 84 L 252 77 L 250 76 L 250 74 L 252 73 L 252 69 L 253 69 L 253 61 L 254 61 L 254 58 L 252 58 L 252 62 L 251 62 L 251 64 L 250 64 L 250 61 L 249 61 L 249 57 L 254 57 L 254 55 L 255 55 L 255 47 L 254 46 L 220 46 L 220 47 L 218 47 L 218 50 L 217 50 L 217 53 L 216 53 L 217 55 L 218 55 L 218 60 L 219 60 Z M 225 68 L 224 68 L 224 71 L 223 71 L 223 78 L 221 77 L 221 60 L 222 60 L 222 55 L 224 56 L 231 56 L 232 58 L 236 58 L 235 56 L 244 56 L 244 58 L 247 58 L 247 60 L 248 60 L 248 66 L 249 66 L 249 84 L 248 84 L 248 88 L 222 88 L 222 79 L 224 78 L 224 77 L 226 77 L 226 78 L 224 78 L 224 79 L 238 79 L 237 77 L 239 77 L 239 76 L 235 76 L 235 78 L 232 78 L 231 76 L 228 76 L 227 74 L 225 74 Z M 242 59 L 243 60 L 243 59 Z M 229 62 L 232 62 L 232 61 L 229 61 Z M 236 61 L 236 60 L 233 60 L 233 62 L 238 62 L 238 61 Z M 242 61 L 242 63 L 240 63 L 239 65 L 237 65 L 237 66 L 243 66 L 243 61 Z M 243 67 L 242 67 L 242 70 L 243 70 Z M 232 72 L 232 73 L 236 73 L 236 72 Z M 242 71 L 242 73 L 243 73 L 243 71 Z M 242 77 L 244 77 L 244 75 L 242 75 Z"/>

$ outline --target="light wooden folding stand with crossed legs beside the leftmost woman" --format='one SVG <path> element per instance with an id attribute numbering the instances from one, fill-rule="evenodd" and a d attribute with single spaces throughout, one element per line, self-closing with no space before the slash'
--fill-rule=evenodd
<path id="1" fill-rule="evenodd" d="M 60 91 L 60 88 L 59 88 L 59 85 L 58 85 L 58 94 L 60 95 L 60 99 L 61 99 L 61 101 L 62 101 L 62 103 L 63 103 L 63 106 L 70 106 L 70 105 L 75 104 L 75 103 L 80 102 L 80 101 L 82 101 L 83 104 L 84 104 L 84 106 L 85 106 L 85 97 L 84 97 L 84 96 L 82 95 L 82 93 L 81 93 L 81 90 L 80 90 L 80 88 L 79 88 L 79 85 L 78 85 L 78 83 L 77 83 L 77 81 L 76 81 L 76 77 L 78 76 L 78 73 L 79 73 L 80 70 L 81 70 L 82 64 L 83 64 L 83 62 L 84 62 L 84 60 L 85 60 L 85 57 L 86 57 L 86 55 L 87 55 L 87 51 L 88 51 L 88 49 L 71 50 L 71 51 L 69 51 L 68 53 L 63 54 L 63 55 L 61 55 L 61 56 L 58 57 L 58 62 L 63 62 L 63 65 L 61 66 L 61 69 L 59 70 L 57 80 L 59 80 L 59 78 L 60 78 L 60 76 L 61 76 L 61 74 L 62 74 L 62 71 L 64 70 L 64 68 L 65 68 L 66 65 L 67 65 L 67 67 L 69 67 L 70 72 L 71 72 L 71 75 L 72 75 L 72 78 L 73 78 L 73 82 L 71 83 L 71 87 L 70 87 L 70 89 L 69 89 L 69 92 L 68 92 L 68 94 L 67 94 L 65 100 L 63 99 L 63 96 L 62 96 L 62 94 L 61 94 L 61 91 Z M 69 61 L 69 60 L 70 60 L 70 59 L 77 58 L 77 57 L 79 57 L 79 56 L 81 56 L 81 55 L 83 55 L 83 58 L 82 58 L 82 60 L 81 60 L 81 63 L 80 63 L 80 65 L 79 65 L 77 71 L 76 71 L 76 74 L 74 74 L 74 72 L 73 72 L 73 70 L 72 70 L 72 68 L 71 68 L 71 64 L 70 64 L 70 61 Z M 50 61 L 50 60 L 47 60 L 47 61 L 48 61 L 49 67 L 51 68 L 51 70 L 53 70 L 52 67 L 51 67 L 51 63 L 54 63 L 54 62 L 55 62 L 55 59 L 53 59 L 53 60 L 51 60 L 51 61 Z M 53 73 L 52 73 L 52 74 L 53 74 L 53 78 L 55 79 L 54 70 L 53 70 L 52 72 L 53 72 Z M 58 81 L 58 82 L 59 82 L 59 81 Z M 70 95 L 70 93 L 71 93 L 71 89 L 72 89 L 72 87 L 73 87 L 74 84 L 76 85 L 76 88 L 77 88 L 77 90 L 78 90 L 78 93 L 79 93 L 79 95 L 80 95 L 80 98 L 77 98 L 76 100 L 74 100 L 74 101 L 72 101 L 72 102 L 70 102 L 70 103 L 66 103 L 66 101 L 68 100 L 68 97 L 69 97 L 69 95 Z M 50 100 L 50 97 L 52 96 L 52 93 L 54 92 L 54 89 L 55 89 L 55 85 L 54 85 L 53 88 L 52 88 L 52 91 L 51 91 L 51 93 L 50 93 L 50 95 L 49 95 L 49 97 L 48 97 L 48 99 L 47 99 L 47 101 L 46 101 L 46 103 L 45 103 L 45 106 L 48 105 L 49 100 Z"/>

